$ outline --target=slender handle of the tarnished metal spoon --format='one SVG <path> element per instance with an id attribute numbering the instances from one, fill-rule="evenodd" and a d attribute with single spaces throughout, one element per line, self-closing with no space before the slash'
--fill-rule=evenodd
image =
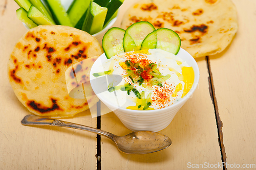
<path id="1" fill-rule="evenodd" d="M 92 128 L 89 126 L 74 124 L 74 123 L 65 122 L 65 121 L 57 120 L 57 119 L 40 117 L 40 116 L 36 116 L 36 115 L 32 115 L 32 114 L 26 115 L 23 118 L 22 125 L 39 125 L 39 126 L 46 125 L 46 126 L 60 126 L 60 127 L 66 127 L 66 128 L 80 129 L 80 130 L 93 132 L 98 135 L 108 137 L 113 141 L 114 141 L 114 136 L 115 136 L 112 133 L 102 131 L 100 129 Z"/>

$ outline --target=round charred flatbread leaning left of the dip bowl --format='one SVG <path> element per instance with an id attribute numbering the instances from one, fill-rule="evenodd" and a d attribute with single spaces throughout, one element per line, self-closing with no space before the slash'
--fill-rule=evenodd
<path id="1" fill-rule="evenodd" d="M 8 62 L 10 84 L 20 102 L 39 116 L 70 117 L 98 98 L 69 96 L 65 71 L 77 62 L 101 55 L 90 34 L 67 26 L 38 26 L 16 43 Z"/>

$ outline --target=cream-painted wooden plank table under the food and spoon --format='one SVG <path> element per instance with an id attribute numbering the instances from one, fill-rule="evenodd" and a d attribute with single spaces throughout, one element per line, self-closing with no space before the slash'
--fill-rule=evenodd
<path id="1" fill-rule="evenodd" d="M 8 82 L 7 62 L 26 29 L 16 18 L 16 3 L 1 0 L 0 169 L 179 170 L 197 164 L 207 164 L 198 169 L 212 169 L 212 165 L 214 169 L 236 169 L 238 165 L 239 169 L 256 169 L 256 1 L 232 1 L 238 10 L 238 33 L 221 54 L 197 59 L 200 82 L 193 98 L 160 131 L 172 139 L 172 145 L 152 154 L 126 155 L 110 139 L 97 139 L 89 132 L 20 124 L 30 112 Z M 126 0 L 122 5 L 116 27 L 134 2 Z M 114 113 L 92 118 L 85 111 L 65 120 L 116 135 L 131 132 Z M 229 167 L 217 166 L 222 162 Z"/>

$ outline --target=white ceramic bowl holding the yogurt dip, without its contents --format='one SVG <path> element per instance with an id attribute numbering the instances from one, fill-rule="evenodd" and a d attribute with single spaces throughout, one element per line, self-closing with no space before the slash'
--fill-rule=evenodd
<path id="1" fill-rule="evenodd" d="M 185 60 L 190 66 L 193 67 L 195 72 L 194 84 L 190 91 L 178 102 L 168 107 L 156 110 L 130 110 L 113 105 L 102 96 L 102 93 L 96 94 L 98 98 L 108 106 L 121 120 L 123 125 L 132 131 L 155 131 L 158 132 L 166 128 L 170 122 L 172 122 L 174 116 L 179 109 L 186 103 L 186 101 L 192 97 L 193 92 L 196 90 L 199 82 L 199 68 L 195 59 L 187 53 L 185 50 L 180 48 L 177 54 L 181 59 Z M 102 54 L 93 64 L 90 73 L 90 80 L 93 77 L 92 74 L 97 72 L 97 65 L 101 64 L 101 61 L 108 60 L 105 55 Z M 94 85 L 92 85 L 93 90 Z"/>

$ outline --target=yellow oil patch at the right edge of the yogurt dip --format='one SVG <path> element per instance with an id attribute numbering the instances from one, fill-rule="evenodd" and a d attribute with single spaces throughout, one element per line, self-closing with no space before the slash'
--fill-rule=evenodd
<path id="1" fill-rule="evenodd" d="M 191 89 L 191 87 L 194 83 L 194 79 L 195 79 L 194 69 L 192 67 L 183 67 L 182 75 L 184 77 L 183 82 L 185 83 L 185 87 L 184 87 L 183 94 L 182 94 L 181 98 L 183 98 L 183 96 L 188 93 L 188 91 Z"/>

